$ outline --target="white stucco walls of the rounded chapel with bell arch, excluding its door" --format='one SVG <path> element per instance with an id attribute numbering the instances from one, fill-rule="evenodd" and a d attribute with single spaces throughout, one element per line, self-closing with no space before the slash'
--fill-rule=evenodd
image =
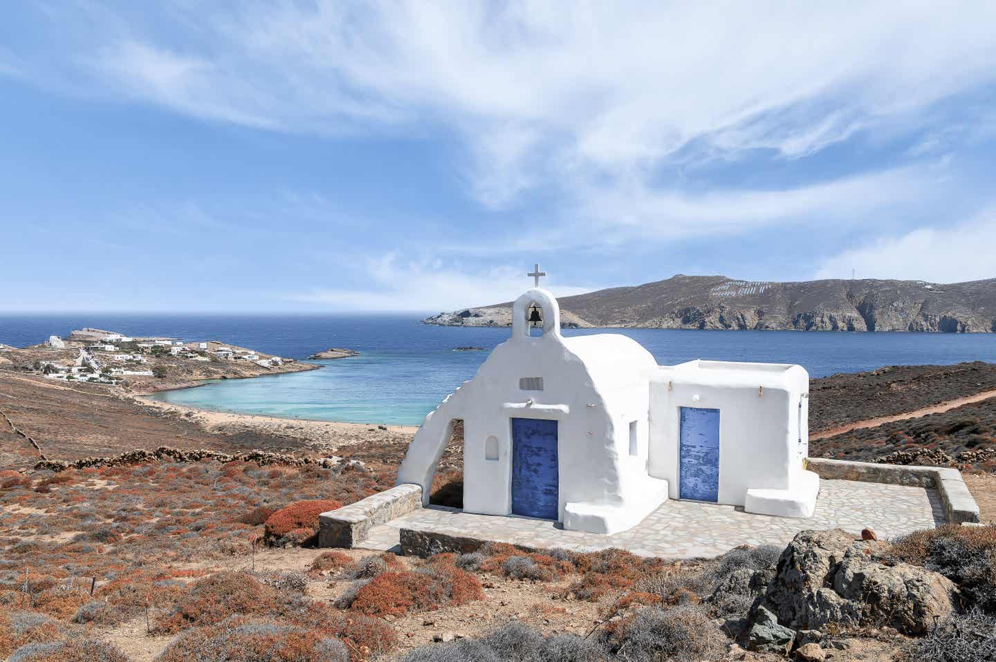
<path id="1" fill-rule="evenodd" d="M 544 333 L 529 334 L 527 309 L 543 310 Z M 469 513 L 510 515 L 512 418 L 558 421 L 558 519 L 565 528 L 615 533 L 643 519 L 666 499 L 666 484 L 646 473 L 648 378 L 652 355 L 616 333 L 564 338 L 556 300 L 531 290 L 516 302 L 512 337 L 498 345 L 477 374 L 426 418 L 398 473 L 423 485 L 438 462 L 444 421 L 464 425 L 463 507 Z M 520 320 L 521 318 L 521 320 Z M 543 390 L 522 390 L 521 377 L 542 377 Z M 629 454 L 629 422 L 640 438 Z M 486 458 L 487 440 L 498 457 Z M 421 458 L 421 459 L 419 459 Z M 426 465 L 431 468 L 426 470 Z"/>

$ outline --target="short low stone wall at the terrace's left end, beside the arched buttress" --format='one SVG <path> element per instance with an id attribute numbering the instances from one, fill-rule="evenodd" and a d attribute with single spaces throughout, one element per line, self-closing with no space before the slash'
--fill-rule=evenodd
<path id="1" fill-rule="evenodd" d="M 422 488 L 405 483 L 378 492 L 355 504 L 318 516 L 318 544 L 322 548 L 355 548 L 367 540 L 371 528 L 422 507 Z"/>

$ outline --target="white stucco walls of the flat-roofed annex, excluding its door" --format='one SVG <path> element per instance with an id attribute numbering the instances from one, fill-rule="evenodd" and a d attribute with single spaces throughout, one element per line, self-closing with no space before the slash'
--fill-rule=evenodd
<path id="1" fill-rule="evenodd" d="M 811 515 L 818 482 L 803 468 L 808 392 L 809 375 L 799 365 L 695 360 L 657 368 L 650 378 L 650 475 L 668 481 L 669 496 L 679 498 L 680 408 L 715 408 L 718 503 L 746 506 L 749 491 L 764 491 L 759 508 L 773 511 L 766 514 Z M 785 503 L 769 503 L 779 500 Z"/>

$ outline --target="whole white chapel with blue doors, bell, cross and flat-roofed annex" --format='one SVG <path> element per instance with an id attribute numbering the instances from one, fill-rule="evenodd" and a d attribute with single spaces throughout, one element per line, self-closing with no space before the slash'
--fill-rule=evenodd
<path id="1" fill-rule="evenodd" d="M 557 300 L 536 287 L 512 336 L 431 413 L 398 471 L 428 502 L 463 421 L 463 510 L 554 520 L 613 534 L 667 499 L 810 517 L 804 469 L 809 375 L 799 365 L 693 360 L 657 365 L 619 333 L 564 337 Z M 542 335 L 530 333 L 530 320 Z"/>

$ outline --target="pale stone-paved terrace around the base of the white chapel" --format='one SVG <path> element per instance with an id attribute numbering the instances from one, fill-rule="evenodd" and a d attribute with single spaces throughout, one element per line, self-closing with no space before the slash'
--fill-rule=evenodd
<path id="1" fill-rule="evenodd" d="M 786 545 L 805 529 L 844 529 L 860 534 L 872 529 L 879 540 L 892 539 L 944 522 L 944 508 L 934 490 L 880 483 L 821 480 L 812 518 L 751 515 L 742 509 L 687 501 L 665 502 L 639 525 L 612 536 L 558 529 L 546 520 L 471 515 L 431 506 L 373 527 L 361 545 L 391 550 L 401 529 L 432 532 L 532 548 L 591 552 L 622 548 L 645 556 L 716 556 L 738 545 Z M 395 550 L 396 551 L 396 550 Z"/>

